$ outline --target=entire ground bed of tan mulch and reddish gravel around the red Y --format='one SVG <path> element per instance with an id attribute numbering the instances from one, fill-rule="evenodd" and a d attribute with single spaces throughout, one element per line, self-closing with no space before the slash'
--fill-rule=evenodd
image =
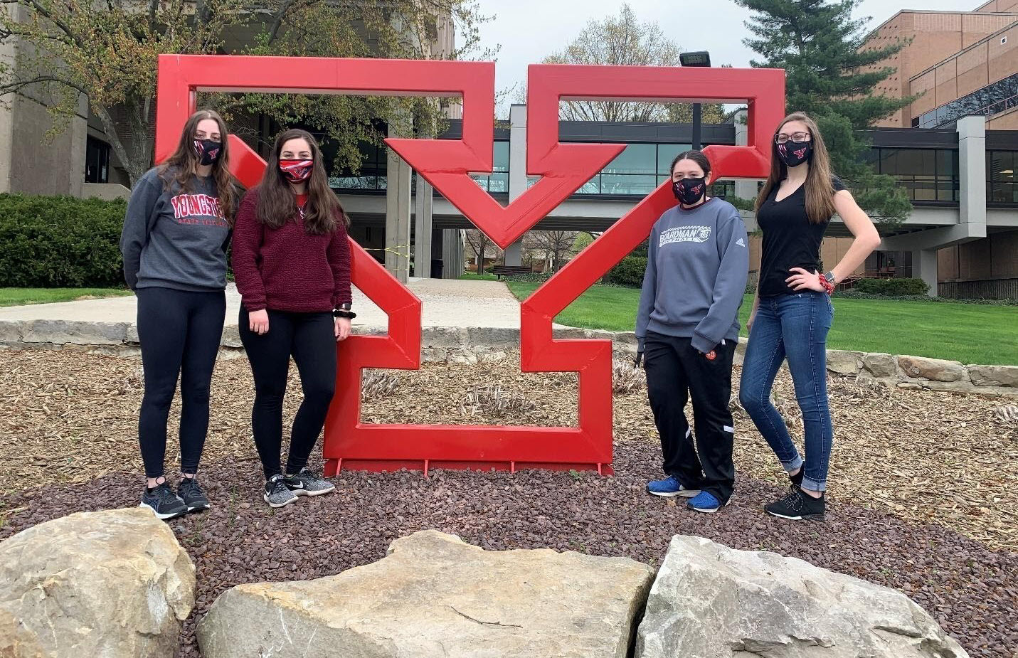
<path id="1" fill-rule="evenodd" d="M 0 522 L 6 522 L 0 539 L 72 511 L 137 504 L 139 366 L 136 359 L 0 350 Z M 515 357 L 475 367 L 426 365 L 392 377 L 397 381 L 385 387 L 389 394 L 364 404 L 365 420 L 575 421 L 575 376 L 524 375 Z M 779 377 L 776 392 L 794 414 L 787 376 Z M 1018 651 L 1018 436 L 1013 424 L 995 420 L 1001 401 L 841 380 L 832 380 L 831 395 L 836 449 L 824 523 L 783 523 L 761 512 L 787 480 L 740 413 L 732 505 L 696 514 L 681 501 L 646 495 L 646 480 L 659 476 L 660 448 L 643 390 L 616 397 L 612 478 L 547 471 L 437 471 L 430 479 L 343 473 L 336 495 L 270 510 L 261 500 L 261 470 L 248 438 L 247 363 L 221 361 L 202 472 L 214 506 L 171 523 L 199 575 L 197 604 L 178 656 L 200 655 L 194 627 L 225 589 L 339 573 L 382 558 L 397 537 L 435 528 L 489 549 L 550 547 L 648 564 L 660 563 L 675 534 L 773 550 L 898 588 L 970 655 L 1012 658 Z M 294 379 L 287 415 L 298 402 Z M 801 427 L 793 435 L 801 435 Z"/>

